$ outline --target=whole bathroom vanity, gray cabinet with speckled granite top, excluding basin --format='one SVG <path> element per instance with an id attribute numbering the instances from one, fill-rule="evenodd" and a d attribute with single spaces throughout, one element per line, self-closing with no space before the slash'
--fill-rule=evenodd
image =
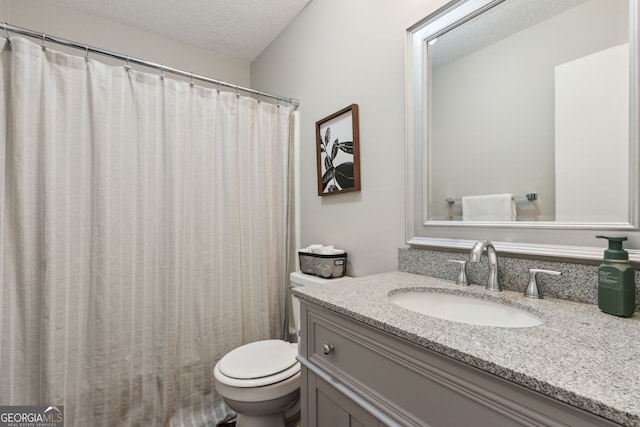
<path id="1" fill-rule="evenodd" d="M 402 289 L 491 299 L 544 323 L 441 320 L 393 304 L 388 296 Z M 637 315 L 401 272 L 294 293 L 302 425 L 640 425 Z"/>

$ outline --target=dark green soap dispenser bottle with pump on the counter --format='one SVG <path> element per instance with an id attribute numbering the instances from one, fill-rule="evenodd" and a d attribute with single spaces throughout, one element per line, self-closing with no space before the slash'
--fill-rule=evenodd
<path id="1" fill-rule="evenodd" d="M 609 240 L 604 262 L 598 268 L 598 307 L 605 313 L 630 317 L 636 310 L 636 284 L 629 253 L 622 249 L 622 242 L 627 238 L 596 237 Z"/>

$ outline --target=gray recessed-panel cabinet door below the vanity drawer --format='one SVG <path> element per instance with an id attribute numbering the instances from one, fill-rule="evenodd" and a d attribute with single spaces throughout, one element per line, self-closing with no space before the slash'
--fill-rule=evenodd
<path id="1" fill-rule="evenodd" d="M 308 374 L 308 427 L 381 427 L 373 415 L 326 381 Z"/>

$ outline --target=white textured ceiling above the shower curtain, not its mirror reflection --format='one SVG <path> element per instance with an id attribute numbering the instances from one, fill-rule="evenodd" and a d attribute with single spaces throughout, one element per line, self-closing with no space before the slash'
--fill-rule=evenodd
<path id="1" fill-rule="evenodd" d="M 58 0 L 58 4 L 253 61 L 310 0 Z"/>

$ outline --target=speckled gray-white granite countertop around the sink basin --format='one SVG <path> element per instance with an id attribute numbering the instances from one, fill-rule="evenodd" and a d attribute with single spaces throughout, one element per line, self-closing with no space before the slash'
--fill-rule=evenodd
<path id="1" fill-rule="evenodd" d="M 388 300 L 406 288 L 496 298 L 535 312 L 529 328 L 476 326 L 428 317 Z M 620 318 L 596 305 L 391 272 L 295 288 L 300 299 L 389 332 L 625 426 L 640 426 L 640 316 Z"/>

